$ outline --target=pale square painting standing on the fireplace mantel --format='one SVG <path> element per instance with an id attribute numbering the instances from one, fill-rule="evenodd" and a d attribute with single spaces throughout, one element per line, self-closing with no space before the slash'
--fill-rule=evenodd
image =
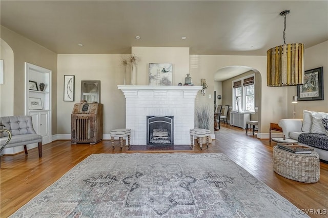
<path id="1" fill-rule="evenodd" d="M 173 77 L 173 66 L 171 63 L 149 64 L 149 85 L 171 86 Z"/>

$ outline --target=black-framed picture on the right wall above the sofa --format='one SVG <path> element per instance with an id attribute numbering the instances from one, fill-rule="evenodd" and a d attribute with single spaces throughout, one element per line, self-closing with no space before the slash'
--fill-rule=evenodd
<path id="1" fill-rule="evenodd" d="M 297 85 L 298 101 L 323 100 L 323 67 L 306 70 L 303 85 Z"/>

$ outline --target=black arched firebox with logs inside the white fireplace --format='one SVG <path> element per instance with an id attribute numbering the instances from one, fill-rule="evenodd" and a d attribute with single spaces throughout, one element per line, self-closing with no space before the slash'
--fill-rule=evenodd
<path id="1" fill-rule="evenodd" d="M 147 116 L 147 145 L 173 145 L 174 116 Z"/>

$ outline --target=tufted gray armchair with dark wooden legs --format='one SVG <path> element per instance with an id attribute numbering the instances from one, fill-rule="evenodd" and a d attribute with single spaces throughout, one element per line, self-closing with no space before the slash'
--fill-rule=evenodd
<path id="1" fill-rule="evenodd" d="M 38 143 L 39 158 L 42 157 L 42 136 L 36 134 L 33 129 L 31 116 L 2 116 L 0 123 L 3 128 L 12 133 L 10 141 L 6 143 L 9 138 L 7 131 L 1 132 L 0 144 L 1 151 L 6 148 L 16 146 L 24 146 L 25 154 L 27 155 L 27 144 Z M 1 163 L 1 156 L 0 156 Z"/>

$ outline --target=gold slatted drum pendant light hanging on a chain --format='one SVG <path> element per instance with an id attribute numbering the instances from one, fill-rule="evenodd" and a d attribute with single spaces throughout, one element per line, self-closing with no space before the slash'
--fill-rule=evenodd
<path id="1" fill-rule="evenodd" d="M 304 44 L 286 44 L 286 15 L 289 10 L 282 11 L 284 16 L 283 45 L 267 51 L 267 85 L 295 86 L 304 80 Z"/>

